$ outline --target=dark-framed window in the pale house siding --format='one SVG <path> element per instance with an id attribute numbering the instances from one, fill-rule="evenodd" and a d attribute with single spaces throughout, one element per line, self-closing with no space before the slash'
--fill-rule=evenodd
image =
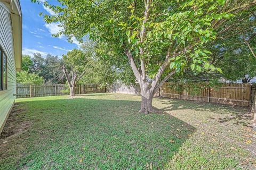
<path id="1" fill-rule="evenodd" d="M 0 90 L 7 89 L 7 56 L 2 48 L 0 48 Z"/>

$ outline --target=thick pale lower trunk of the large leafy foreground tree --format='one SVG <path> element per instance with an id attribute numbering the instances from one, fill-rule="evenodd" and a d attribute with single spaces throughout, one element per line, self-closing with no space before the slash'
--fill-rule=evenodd
<path id="1" fill-rule="evenodd" d="M 144 114 L 149 114 L 154 112 L 154 108 L 152 106 L 153 100 L 153 91 L 148 89 L 148 83 L 142 83 L 140 86 L 141 91 L 141 108 L 140 112 Z"/>

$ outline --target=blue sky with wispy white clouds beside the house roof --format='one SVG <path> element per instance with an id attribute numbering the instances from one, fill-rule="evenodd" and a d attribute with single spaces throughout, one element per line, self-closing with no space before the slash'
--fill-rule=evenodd
<path id="1" fill-rule="evenodd" d="M 43 0 L 41 0 L 43 1 Z M 54 1 L 49 1 L 50 3 Z M 22 11 L 22 54 L 33 55 L 41 53 L 43 56 L 50 53 L 52 55 L 66 54 L 68 50 L 79 48 L 79 43 L 74 39 L 73 43 L 68 43 L 65 36 L 52 37 L 61 28 L 58 24 L 46 24 L 43 20 L 43 14 L 54 13 L 43 3 L 31 3 L 30 0 L 20 0 Z"/>

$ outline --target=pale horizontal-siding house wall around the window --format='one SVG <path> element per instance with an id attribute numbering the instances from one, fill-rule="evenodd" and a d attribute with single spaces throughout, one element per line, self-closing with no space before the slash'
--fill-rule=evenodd
<path id="1" fill-rule="evenodd" d="M 0 91 L 0 133 L 13 106 L 16 93 L 16 71 L 13 50 L 11 15 L 0 2 L 0 46 L 7 56 L 7 90 Z"/>

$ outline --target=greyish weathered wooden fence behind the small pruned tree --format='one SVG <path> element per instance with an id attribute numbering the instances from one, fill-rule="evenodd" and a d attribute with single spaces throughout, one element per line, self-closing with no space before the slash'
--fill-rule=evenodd
<path id="1" fill-rule="evenodd" d="M 67 95 L 63 92 L 66 88 L 65 84 L 41 84 L 39 86 L 17 84 L 16 98 Z M 99 84 L 83 84 L 77 85 L 75 92 L 76 94 L 88 94 L 104 91 L 105 89 L 100 88 Z"/>

